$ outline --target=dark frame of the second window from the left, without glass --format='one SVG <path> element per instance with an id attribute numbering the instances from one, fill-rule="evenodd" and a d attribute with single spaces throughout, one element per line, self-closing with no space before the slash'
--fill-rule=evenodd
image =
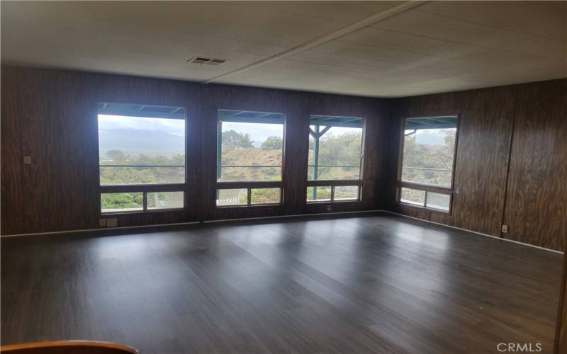
<path id="1" fill-rule="evenodd" d="M 214 195 L 214 204 L 215 207 L 218 209 L 227 209 L 227 208 L 243 208 L 243 207 L 274 207 L 274 206 L 281 206 L 283 205 L 283 198 L 284 198 L 284 180 L 286 178 L 286 173 L 284 171 L 286 171 L 286 130 L 287 130 L 287 114 L 286 113 L 281 113 L 281 112 L 270 112 L 269 110 L 252 110 L 252 109 L 246 109 L 246 110 L 242 110 L 243 112 L 254 112 L 254 113 L 274 113 L 274 114 L 281 114 L 283 115 L 283 132 L 282 132 L 282 147 L 281 147 L 281 179 L 280 181 L 225 181 L 225 182 L 220 182 L 218 181 L 218 168 L 219 168 L 219 156 L 222 156 L 223 154 L 223 145 L 222 145 L 222 127 L 220 125 L 220 119 L 218 118 L 218 112 L 220 110 L 239 110 L 239 109 L 230 109 L 230 108 L 217 108 L 215 109 L 215 115 L 216 115 L 216 136 L 217 136 L 217 141 L 216 141 L 216 149 L 215 149 L 215 154 L 216 154 L 216 159 L 215 159 L 215 171 L 216 171 L 216 175 L 215 175 L 215 193 Z M 257 123 L 257 124 L 269 124 L 269 123 Z M 279 198 L 279 202 L 277 203 L 262 203 L 262 204 L 251 204 L 251 193 L 252 193 L 252 189 L 257 189 L 257 188 L 279 188 L 280 190 L 280 198 Z M 247 203 L 243 204 L 243 205 L 216 205 L 216 193 L 217 190 L 220 189 L 246 189 L 247 190 Z"/>

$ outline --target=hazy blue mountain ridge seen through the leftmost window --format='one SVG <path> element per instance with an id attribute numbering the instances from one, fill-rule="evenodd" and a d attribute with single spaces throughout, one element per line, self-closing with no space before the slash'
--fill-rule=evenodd
<path id="1" fill-rule="evenodd" d="M 171 157 L 185 154 L 185 138 L 157 130 L 104 129 L 99 130 L 101 159 L 106 152 L 120 150 L 124 154 Z"/>

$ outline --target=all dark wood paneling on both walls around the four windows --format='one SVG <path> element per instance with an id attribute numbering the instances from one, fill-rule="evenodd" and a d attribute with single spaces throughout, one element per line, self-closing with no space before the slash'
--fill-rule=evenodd
<path id="1" fill-rule="evenodd" d="M 326 212 L 305 203 L 309 115 L 352 115 L 366 118 L 361 202 L 333 212 L 387 209 L 565 248 L 567 79 L 391 100 L 10 66 L 1 80 L 2 234 L 98 227 L 96 103 L 108 101 L 182 105 L 188 115 L 186 210 L 121 215 L 120 226 Z M 215 207 L 220 108 L 286 114 L 283 205 Z M 395 201 L 400 120 L 428 115 L 460 118 L 451 215 Z"/>

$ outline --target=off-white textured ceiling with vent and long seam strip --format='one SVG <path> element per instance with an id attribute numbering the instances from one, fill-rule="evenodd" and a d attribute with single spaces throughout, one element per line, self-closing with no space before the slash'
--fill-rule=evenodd
<path id="1" fill-rule="evenodd" d="M 1 1 L 1 59 L 206 81 L 398 4 Z M 567 1 L 434 1 L 215 82 L 399 97 L 563 77 Z"/>

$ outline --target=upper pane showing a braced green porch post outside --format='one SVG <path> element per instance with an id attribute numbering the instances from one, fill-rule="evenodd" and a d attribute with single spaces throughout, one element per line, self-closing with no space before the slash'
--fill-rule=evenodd
<path id="1" fill-rule="evenodd" d="M 360 179 L 362 118 L 312 115 L 308 180 Z"/>

